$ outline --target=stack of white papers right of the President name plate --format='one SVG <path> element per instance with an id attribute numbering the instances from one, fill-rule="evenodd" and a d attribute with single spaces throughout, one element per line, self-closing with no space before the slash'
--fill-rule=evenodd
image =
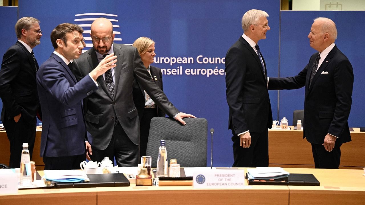
<path id="1" fill-rule="evenodd" d="M 257 167 L 247 169 L 249 180 L 288 181 L 289 172 L 281 167 Z"/>

